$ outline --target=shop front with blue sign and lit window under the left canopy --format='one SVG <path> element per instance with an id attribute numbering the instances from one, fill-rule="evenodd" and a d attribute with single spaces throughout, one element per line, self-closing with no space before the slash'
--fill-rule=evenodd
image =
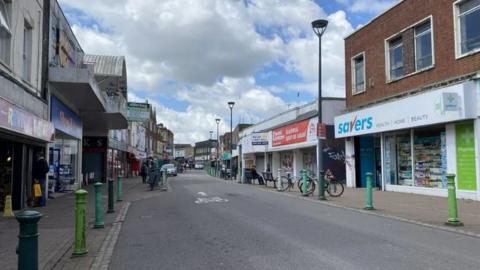
<path id="1" fill-rule="evenodd" d="M 55 96 L 51 97 L 50 117 L 55 127 L 55 140 L 48 146 L 49 190 L 71 191 L 82 181 L 82 120 Z"/>

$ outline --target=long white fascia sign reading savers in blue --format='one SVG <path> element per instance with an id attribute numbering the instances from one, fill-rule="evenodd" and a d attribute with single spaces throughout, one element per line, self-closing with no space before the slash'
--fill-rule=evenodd
<path id="1" fill-rule="evenodd" d="M 476 117 L 476 84 L 467 82 L 335 117 L 335 138 Z"/>

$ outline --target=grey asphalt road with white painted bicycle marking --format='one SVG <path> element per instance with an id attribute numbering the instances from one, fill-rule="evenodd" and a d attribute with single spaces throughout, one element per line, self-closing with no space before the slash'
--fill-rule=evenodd
<path id="1" fill-rule="evenodd" d="M 203 172 L 169 179 L 130 206 L 110 269 L 480 269 L 480 239 Z"/>

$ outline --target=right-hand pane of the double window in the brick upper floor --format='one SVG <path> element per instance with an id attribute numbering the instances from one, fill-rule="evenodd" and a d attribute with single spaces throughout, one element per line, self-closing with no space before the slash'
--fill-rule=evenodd
<path id="1" fill-rule="evenodd" d="M 415 27 L 415 67 L 416 70 L 429 68 L 433 64 L 432 28 L 430 20 Z"/>

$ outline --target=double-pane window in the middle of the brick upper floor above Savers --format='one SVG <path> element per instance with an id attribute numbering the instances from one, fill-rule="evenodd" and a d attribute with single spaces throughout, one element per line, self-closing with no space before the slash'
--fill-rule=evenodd
<path id="1" fill-rule="evenodd" d="M 435 59 L 432 17 L 388 38 L 385 47 L 387 82 L 432 68 Z"/>

